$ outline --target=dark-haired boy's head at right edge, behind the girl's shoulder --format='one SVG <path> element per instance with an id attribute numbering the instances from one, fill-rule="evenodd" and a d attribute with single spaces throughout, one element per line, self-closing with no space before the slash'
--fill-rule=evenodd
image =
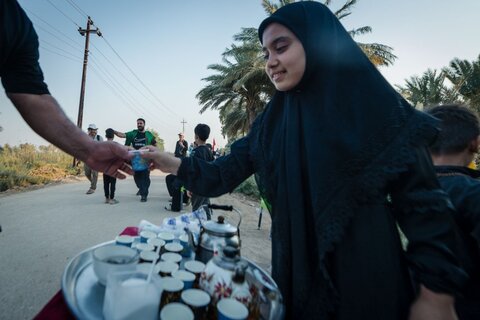
<path id="1" fill-rule="evenodd" d="M 430 145 L 432 155 L 454 155 L 468 150 L 478 152 L 480 123 L 477 115 L 465 106 L 441 105 L 426 112 L 440 122 L 440 133 Z"/>

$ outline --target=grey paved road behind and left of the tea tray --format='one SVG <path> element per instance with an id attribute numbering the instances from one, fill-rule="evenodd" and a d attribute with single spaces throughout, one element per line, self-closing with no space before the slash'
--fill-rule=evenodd
<path id="1" fill-rule="evenodd" d="M 86 180 L 34 191 L 0 194 L 0 319 L 32 319 L 60 289 L 63 270 L 72 257 L 112 240 L 126 226 L 145 219 L 160 224 L 172 212 L 164 209 L 168 193 L 163 175 L 152 176 L 148 202 L 135 196 L 131 177 L 117 181 L 120 203 L 104 203 L 103 181 L 86 195 Z M 270 264 L 270 220 L 264 215 L 257 230 L 258 203 L 236 195 L 213 200 L 243 212 L 242 255 L 267 268 Z M 187 207 L 186 211 L 191 211 Z M 223 212 L 222 212 L 223 214 Z M 226 214 L 235 224 L 235 215 Z"/>

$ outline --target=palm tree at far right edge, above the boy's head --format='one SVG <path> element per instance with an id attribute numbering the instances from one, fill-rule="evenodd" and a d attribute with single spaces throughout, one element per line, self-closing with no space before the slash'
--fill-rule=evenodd
<path id="1" fill-rule="evenodd" d="M 473 62 L 455 58 L 443 72 L 465 103 L 480 112 L 480 55 Z"/>

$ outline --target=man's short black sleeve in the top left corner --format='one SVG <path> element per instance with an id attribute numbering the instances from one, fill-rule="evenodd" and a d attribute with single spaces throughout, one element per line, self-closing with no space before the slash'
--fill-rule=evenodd
<path id="1" fill-rule="evenodd" d="M 0 1 L 0 76 L 8 93 L 48 94 L 38 63 L 38 37 L 16 1 Z"/>

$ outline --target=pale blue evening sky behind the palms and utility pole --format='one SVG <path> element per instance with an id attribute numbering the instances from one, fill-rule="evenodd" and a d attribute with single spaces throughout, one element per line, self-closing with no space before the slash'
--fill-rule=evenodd
<path id="1" fill-rule="evenodd" d="M 102 37 L 90 35 L 83 129 L 99 134 L 126 132 L 136 119 L 157 131 L 173 151 L 178 133 L 193 141 L 198 123 L 211 127 L 210 139 L 224 146 L 218 112 L 200 114 L 196 94 L 207 84 L 211 64 L 245 27 L 267 17 L 261 0 L 18 0 L 40 41 L 40 65 L 51 94 L 77 122 L 87 16 Z M 332 0 L 332 11 L 345 0 Z M 342 23 L 372 32 L 355 38 L 393 48 L 393 66 L 380 68 L 392 85 L 440 70 L 454 58 L 480 55 L 479 0 L 358 0 Z M 185 123 L 182 123 L 185 122 Z M 0 145 L 48 144 L 34 133 L 0 90 Z M 119 139 L 119 142 L 122 142 Z"/>

